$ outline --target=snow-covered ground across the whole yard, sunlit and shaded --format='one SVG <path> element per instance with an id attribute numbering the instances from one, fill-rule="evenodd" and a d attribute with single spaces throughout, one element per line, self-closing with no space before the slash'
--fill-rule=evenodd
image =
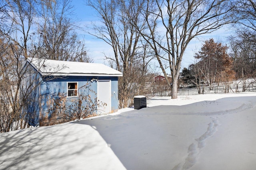
<path id="1" fill-rule="evenodd" d="M 255 170 L 256 93 L 147 99 L 148 107 L 0 134 L 0 169 Z"/>

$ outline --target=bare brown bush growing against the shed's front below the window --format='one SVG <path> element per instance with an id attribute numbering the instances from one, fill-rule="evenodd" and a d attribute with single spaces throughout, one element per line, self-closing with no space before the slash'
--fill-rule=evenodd
<path id="1" fill-rule="evenodd" d="M 106 103 L 100 102 L 97 98 L 92 98 L 92 95 L 96 95 L 96 92 L 91 90 L 90 86 L 91 82 L 87 82 L 86 85 L 78 88 L 78 97 L 74 98 L 67 98 L 66 93 L 42 96 L 47 98 L 45 101 L 47 107 L 41 106 L 44 111 L 40 112 L 40 126 L 80 120 L 97 115 L 97 111 L 100 107 L 106 106 Z"/>

